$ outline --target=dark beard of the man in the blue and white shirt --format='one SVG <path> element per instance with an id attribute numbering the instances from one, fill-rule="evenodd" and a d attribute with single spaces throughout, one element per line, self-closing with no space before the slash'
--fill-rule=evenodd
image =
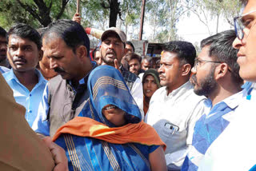
<path id="1" fill-rule="evenodd" d="M 217 82 L 214 80 L 214 70 L 213 68 L 210 71 L 210 74 L 206 76 L 200 83 L 198 84 L 197 78 L 195 75 L 191 77 L 192 81 L 194 82 L 194 93 L 198 96 L 206 96 L 208 97 L 210 93 L 213 93 L 214 90 L 217 88 Z"/>

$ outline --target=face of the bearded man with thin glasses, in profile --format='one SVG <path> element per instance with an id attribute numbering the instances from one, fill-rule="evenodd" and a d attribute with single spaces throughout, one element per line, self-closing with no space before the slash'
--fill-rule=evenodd
<path id="1" fill-rule="evenodd" d="M 214 93 L 217 88 L 217 82 L 214 79 L 214 63 L 203 62 L 213 61 L 209 57 L 209 46 L 202 48 L 202 52 L 198 55 L 198 66 L 192 69 L 192 77 L 190 82 L 194 85 L 194 93 L 199 96 L 209 96 L 210 93 Z"/>

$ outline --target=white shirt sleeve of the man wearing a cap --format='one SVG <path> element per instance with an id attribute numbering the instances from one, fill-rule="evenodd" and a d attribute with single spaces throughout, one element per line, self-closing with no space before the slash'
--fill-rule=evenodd
<path id="1" fill-rule="evenodd" d="M 137 103 L 138 108 L 142 114 L 142 120 L 144 120 L 144 111 L 143 111 L 143 87 L 142 81 L 140 78 L 137 78 L 134 82 L 132 89 L 130 90 L 132 97 L 134 97 L 134 101 Z"/>

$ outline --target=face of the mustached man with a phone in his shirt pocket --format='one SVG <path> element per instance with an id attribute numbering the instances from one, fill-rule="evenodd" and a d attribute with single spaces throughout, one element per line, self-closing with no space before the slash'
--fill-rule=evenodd
<path id="1" fill-rule="evenodd" d="M 182 70 L 180 62 L 176 53 L 163 52 L 160 68 L 158 70 L 160 84 L 166 86 L 167 89 L 177 87 L 180 84 L 180 77 L 182 77 Z"/>

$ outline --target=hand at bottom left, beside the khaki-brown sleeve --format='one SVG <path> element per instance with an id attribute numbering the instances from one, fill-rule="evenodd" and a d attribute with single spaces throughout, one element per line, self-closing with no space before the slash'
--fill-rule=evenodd
<path id="1" fill-rule="evenodd" d="M 51 141 L 50 137 L 44 137 L 42 140 L 46 143 L 54 158 L 54 171 L 68 171 L 69 169 L 65 150 L 62 149 L 62 147 L 56 145 L 53 141 Z"/>

